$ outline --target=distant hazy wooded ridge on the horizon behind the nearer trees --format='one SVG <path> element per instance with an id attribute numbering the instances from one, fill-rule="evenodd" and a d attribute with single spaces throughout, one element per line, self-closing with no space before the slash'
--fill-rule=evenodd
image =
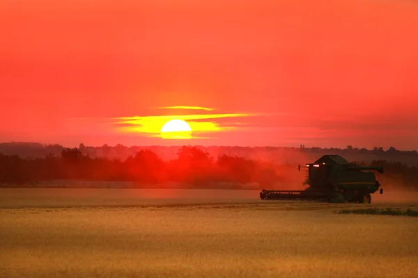
<path id="1" fill-rule="evenodd" d="M 164 161 L 169 161 L 176 158 L 176 152 L 181 146 L 125 146 L 115 145 L 109 146 L 107 144 L 100 147 L 86 146 L 83 143 L 79 144 L 78 149 L 83 154 L 88 154 L 91 158 L 104 157 L 104 158 L 119 158 L 125 160 L 130 156 L 134 156 L 142 149 L 150 149 L 157 153 Z M 239 146 L 195 146 L 203 151 L 210 153 L 212 156 L 219 156 L 226 154 L 229 156 L 242 156 L 245 158 L 265 158 L 265 157 L 277 157 L 280 154 L 341 154 L 342 156 L 350 155 L 372 155 L 384 157 L 387 159 L 417 159 L 418 152 L 415 150 L 401 151 L 395 147 L 389 147 L 384 149 L 383 147 L 373 147 L 373 149 L 366 149 L 364 147 L 353 147 L 348 145 L 345 148 L 321 148 L 321 147 L 239 147 Z M 47 154 L 55 154 L 60 156 L 63 150 L 67 149 L 62 145 L 43 145 L 36 142 L 3 142 L 0 143 L 0 153 L 5 155 L 18 155 L 22 158 L 26 157 L 44 157 Z M 393 159 L 392 159 L 393 160 Z"/>

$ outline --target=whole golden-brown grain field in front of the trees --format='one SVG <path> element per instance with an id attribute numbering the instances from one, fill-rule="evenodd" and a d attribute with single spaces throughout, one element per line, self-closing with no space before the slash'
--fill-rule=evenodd
<path id="1" fill-rule="evenodd" d="M 261 201 L 257 190 L 0 189 L 0 277 L 417 277 L 418 208 Z"/>

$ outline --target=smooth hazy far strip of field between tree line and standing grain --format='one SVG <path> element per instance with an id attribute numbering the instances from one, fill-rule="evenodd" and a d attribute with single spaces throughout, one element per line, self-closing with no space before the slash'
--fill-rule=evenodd
<path id="1" fill-rule="evenodd" d="M 318 202 L 266 202 L 259 199 L 259 190 L 217 189 L 100 189 L 100 188 L 0 188 L 0 208 L 84 208 L 84 207 L 147 207 L 258 204 L 309 208 L 338 208 Z M 373 206 L 392 204 L 400 208 L 418 208 L 418 193 L 391 191 L 373 194 Z M 376 203 L 376 204 L 375 204 Z M 359 207 L 358 204 L 347 206 Z M 364 205 L 363 205 L 364 206 Z M 254 206 L 258 207 L 258 206 Z M 251 206 L 248 206 L 251 208 Z"/>

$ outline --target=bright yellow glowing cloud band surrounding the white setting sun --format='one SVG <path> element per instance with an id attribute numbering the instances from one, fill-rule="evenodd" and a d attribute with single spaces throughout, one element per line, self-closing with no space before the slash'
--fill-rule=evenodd
<path id="1" fill-rule="evenodd" d="M 183 107 L 183 106 L 182 106 Z M 188 107 L 188 106 L 187 106 Z M 251 117 L 256 114 L 192 114 L 192 115 L 151 115 L 112 118 L 116 130 L 121 133 L 136 133 L 148 137 L 160 137 L 162 126 L 169 120 L 184 120 L 192 129 L 192 138 L 210 138 L 208 133 L 241 129 L 242 122 L 219 123 L 222 118 Z M 197 135 L 196 135 L 197 134 Z"/>

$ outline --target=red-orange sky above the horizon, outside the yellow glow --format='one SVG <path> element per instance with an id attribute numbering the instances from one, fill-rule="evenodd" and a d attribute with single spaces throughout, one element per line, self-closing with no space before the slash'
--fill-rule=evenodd
<path id="1" fill-rule="evenodd" d="M 203 106 L 263 115 L 190 145 L 418 149 L 417 15 L 413 0 L 1 1 L 0 141 L 178 145 L 102 122 Z"/>

